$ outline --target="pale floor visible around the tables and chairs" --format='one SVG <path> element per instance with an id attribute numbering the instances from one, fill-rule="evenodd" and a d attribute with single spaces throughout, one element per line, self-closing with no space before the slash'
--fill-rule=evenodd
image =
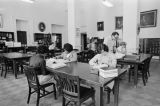
<path id="1" fill-rule="evenodd" d="M 121 80 L 119 106 L 160 106 L 160 61 L 152 60 L 150 73 L 146 86 L 141 78 L 138 80 L 137 88 L 133 86 L 133 81 L 128 83 L 127 75 Z M 8 74 L 6 79 L 0 77 L 0 106 L 36 106 L 36 95 L 31 96 L 29 105 L 26 103 L 27 95 L 28 85 L 24 75 L 19 75 L 18 79 L 15 79 L 12 73 Z M 90 104 L 90 101 L 86 104 Z M 53 95 L 40 100 L 40 106 L 61 105 L 61 97 L 54 100 Z M 114 106 L 113 94 L 109 106 Z"/>

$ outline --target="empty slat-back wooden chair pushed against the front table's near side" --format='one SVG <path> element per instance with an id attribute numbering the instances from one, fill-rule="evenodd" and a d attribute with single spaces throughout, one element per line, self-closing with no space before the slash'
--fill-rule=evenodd
<path id="1" fill-rule="evenodd" d="M 90 97 L 95 104 L 95 90 L 90 87 L 80 86 L 81 79 L 78 76 L 60 72 L 55 72 L 54 76 L 62 88 L 62 106 L 67 106 L 70 103 L 81 106 L 81 103 Z"/>

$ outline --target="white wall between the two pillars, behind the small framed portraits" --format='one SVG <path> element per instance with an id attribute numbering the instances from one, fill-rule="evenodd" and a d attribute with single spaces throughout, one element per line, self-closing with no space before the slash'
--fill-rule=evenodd
<path id="1" fill-rule="evenodd" d="M 113 0 L 112 0 L 113 1 Z M 102 4 L 102 0 L 77 0 L 76 20 L 80 32 L 87 32 L 88 37 L 104 38 L 115 31 L 115 16 L 122 16 L 122 0 L 114 0 L 114 7 Z M 97 22 L 104 22 L 104 31 L 97 31 Z M 122 37 L 122 30 L 117 30 Z"/>

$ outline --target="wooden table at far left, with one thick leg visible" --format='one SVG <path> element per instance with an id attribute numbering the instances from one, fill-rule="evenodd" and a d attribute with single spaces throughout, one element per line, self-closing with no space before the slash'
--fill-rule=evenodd
<path id="1" fill-rule="evenodd" d="M 16 61 L 27 60 L 32 56 L 32 54 L 11 52 L 11 53 L 2 53 L 1 56 L 3 56 L 6 59 L 9 59 L 9 60 L 11 60 L 13 62 L 13 71 L 14 71 L 15 78 L 17 78 Z"/>

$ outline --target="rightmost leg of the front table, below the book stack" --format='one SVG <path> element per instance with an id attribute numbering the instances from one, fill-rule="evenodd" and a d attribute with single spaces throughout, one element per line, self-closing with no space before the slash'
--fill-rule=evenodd
<path id="1" fill-rule="evenodd" d="M 119 98 L 119 78 L 115 79 L 114 85 L 114 106 L 118 106 L 118 98 Z"/>

